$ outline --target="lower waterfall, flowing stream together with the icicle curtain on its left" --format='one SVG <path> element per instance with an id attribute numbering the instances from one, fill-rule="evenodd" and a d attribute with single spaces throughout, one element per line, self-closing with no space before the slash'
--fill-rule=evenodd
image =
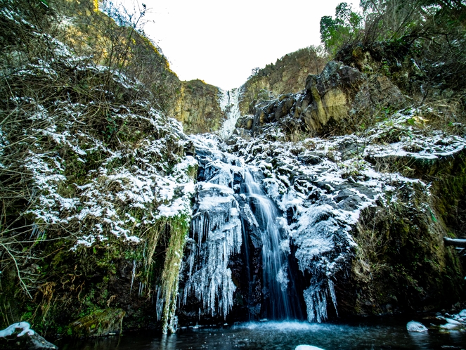
<path id="1" fill-rule="evenodd" d="M 252 319 L 302 318 L 283 215 L 241 158 L 196 137 L 201 168 L 183 262 L 182 304 L 190 304 L 190 315 L 226 318 L 240 295 L 245 311 L 256 308 Z"/>

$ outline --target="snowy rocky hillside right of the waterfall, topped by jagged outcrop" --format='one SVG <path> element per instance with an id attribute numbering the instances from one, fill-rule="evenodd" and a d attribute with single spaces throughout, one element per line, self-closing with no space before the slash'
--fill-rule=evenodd
<path id="1" fill-rule="evenodd" d="M 434 112 L 432 107 L 415 108 L 408 101 L 386 76 L 330 62 L 321 74 L 309 75 L 305 91 L 257 103 L 254 115 L 238 122 L 244 129 L 228 141 L 246 162 L 262 160 L 266 174 L 278 181 L 277 186 L 266 179 L 273 186 L 265 187 L 287 212 L 288 224 L 298 227 L 290 239 L 298 261 L 305 242 L 299 236 L 299 213 L 315 206 L 318 210 L 323 203 L 334 208 L 330 217 L 335 219 L 339 209 L 358 213 L 356 221 L 347 221 L 352 227 L 350 241 L 355 243 L 353 256 L 346 260 L 351 267 L 327 273 L 336 281 L 340 314 L 429 310 L 439 307 L 436 300 L 447 290 L 457 293 L 448 306 L 462 294 L 460 261 L 442 238 L 461 227 L 451 211 L 460 217 L 464 212 L 465 129 L 456 123 L 464 114 L 454 106 Z M 242 135 L 252 135 L 254 141 Z M 306 138 L 310 135 L 325 138 Z M 285 143 L 299 138 L 304 141 Z M 298 145 L 302 148 L 295 149 Z M 320 153 L 320 147 L 328 153 Z M 334 166 L 342 173 L 330 175 Z M 383 183 L 378 195 L 368 186 L 373 181 Z M 313 195 L 316 188 L 323 192 Z M 302 193 L 304 202 L 292 199 L 292 193 Z M 327 193 L 330 197 L 324 199 Z M 445 193 L 454 198 L 448 205 Z M 370 204 L 361 206 L 365 200 Z M 304 209 L 293 207 L 293 202 Z M 309 223 L 318 227 L 320 220 Z M 325 235 L 316 231 L 309 237 L 320 240 Z M 332 241 L 341 247 L 342 240 L 334 236 Z M 317 242 L 311 245 L 320 249 L 317 246 Z M 406 289 L 400 290 L 400 285 Z M 445 290 L 446 285 L 450 287 Z"/>

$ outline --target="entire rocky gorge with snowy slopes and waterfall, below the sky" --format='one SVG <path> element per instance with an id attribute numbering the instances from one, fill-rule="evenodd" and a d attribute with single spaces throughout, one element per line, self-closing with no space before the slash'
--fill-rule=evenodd
<path id="1" fill-rule="evenodd" d="M 1 329 L 233 339 L 433 315 L 464 339 L 464 63 L 421 62 L 422 36 L 351 41 L 223 91 L 94 1 L 6 1 L 0 27 Z"/>

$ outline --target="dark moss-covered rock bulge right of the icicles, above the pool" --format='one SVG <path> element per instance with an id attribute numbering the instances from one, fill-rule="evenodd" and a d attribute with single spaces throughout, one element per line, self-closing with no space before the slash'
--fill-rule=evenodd
<path id="1" fill-rule="evenodd" d="M 462 293 L 462 270 L 442 243 L 432 196 L 413 184 L 394 197 L 366 209 L 356 230 L 352 270 L 361 300 L 354 311 L 377 314 L 388 304 L 399 311 L 450 306 Z"/>

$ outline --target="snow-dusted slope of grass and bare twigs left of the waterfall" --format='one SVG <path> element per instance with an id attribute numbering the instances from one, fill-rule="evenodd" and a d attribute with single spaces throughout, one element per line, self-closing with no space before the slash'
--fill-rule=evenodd
<path id="1" fill-rule="evenodd" d="M 17 275 L 10 292 L 19 281 L 43 325 L 78 318 L 112 306 L 106 289 L 126 259 L 122 295 L 150 297 L 158 285 L 172 309 L 198 167 L 181 124 L 136 79 L 29 35 L 47 59 L 0 57 L 9 60 L 0 70 L 0 269 Z"/>

